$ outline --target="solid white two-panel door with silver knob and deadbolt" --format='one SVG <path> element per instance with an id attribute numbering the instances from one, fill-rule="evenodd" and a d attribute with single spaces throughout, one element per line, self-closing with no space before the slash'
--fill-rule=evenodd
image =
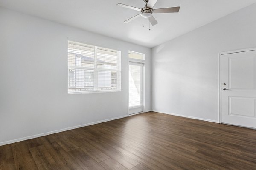
<path id="1" fill-rule="evenodd" d="M 256 51 L 221 55 L 221 122 L 256 128 Z"/>

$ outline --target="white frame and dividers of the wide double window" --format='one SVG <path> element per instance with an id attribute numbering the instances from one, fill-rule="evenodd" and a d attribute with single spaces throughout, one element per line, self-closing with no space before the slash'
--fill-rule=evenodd
<path id="1" fill-rule="evenodd" d="M 67 44 L 72 44 L 73 43 L 78 43 L 78 44 L 84 44 L 84 45 L 88 45 L 88 46 L 93 46 L 94 47 L 94 67 L 83 67 L 83 66 L 70 66 L 69 64 L 69 57 L 67 57 L 68 61 L 67 61 L 67 68 L 68 68 L 68 76 L 67 76 L 67 93 L 68 94 L 90 94 L 90 93 L 108 93 L 108 92 L 118 92 L 118 91 L 122 91 L 122 69 L 121 69 L 121 59 L 122 59 L 122 53 L 120 50 L 117 50 L 117 49 L 113 49 L 113 48 L 107 48 L 109 50 L 113 50 L 113 51 L 116 51 L 117 53 L 117 61 L 116 61 L 116 69 L 109 69 L 109 68 L 97 68 L 98 66 L 98 61 L 97 61 L 97 49 L 98 48 L 106 48 L 106 47 L 103 47 L 102 45 L 101 46 L 98 46 L 98 45 L 91 45 L 90 43 L 87 43 L 87 42 L 81 42 L 81 41 L 77 41 L 77 40 L 68 40 L 67 41 Z M 69 55 L 69 47 L 67 47 L 67 55 Z M 69 78 L 69 71 L 74 71 L 74 74 L 76 72 L 76 69 L 81 69 L 83 72 L 85 71 L 91 71 L 93 72 L 94 74 L 94 77 L 93 77 L 93 86 L 88 86 L 87 88 L 93 88 L 93 90 L 80 90 L 80 91 L 70 91 L 70 88 L 72 89 L 73 87 L 70 87 L 69 84 L 70 84 L 70 78 Z M 110 71 L 110 82 L 112 82 L 112 73 L 115 72 L 116 73 L 116 77 L 119 76 L 119 78 L 116 78 L 116 88 L 117 89 L 105 89 L 105 90 L 99 90 L 98 88 L 98 85 L 95 86 L 95 83 L 98 82 L 99 80 L 99 74 L 98 72 L 99 71 Z M 84 75 L 85 76 L 85 75 Z M 83 77 L 84 77 L 83 76 Z M 118 81 L 119 80 L 119 81 Z M 76 88 L 76 75 L 74 75 L 74 88 Z M 85 79 L 83 79 L 83 82 L 85 83 Z M 86 88 L 86 87 L 84 87 Z M 112 85 L 110 84 L 110 87 L 108 88 L 112 88 Z M 82 89 L 82 88 L 81 88 Z"/>

